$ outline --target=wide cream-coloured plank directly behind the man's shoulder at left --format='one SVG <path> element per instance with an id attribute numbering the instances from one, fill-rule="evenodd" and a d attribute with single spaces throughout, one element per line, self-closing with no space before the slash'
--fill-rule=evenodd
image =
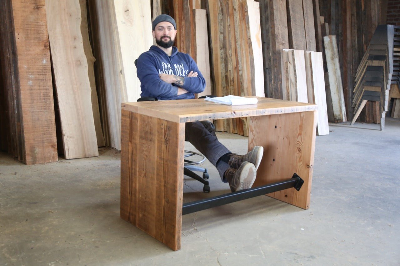
<path id="1" fill-rule="evenodd" d="M 140 98 L 141 91 L 134 61 L 153 43 L 150 1 L 114 0 L 114 7 L 118 27 L 117 44 L 120 45 L 122 78 L 127 96 L 121 100 L 136 101 Z M 122 92 L 121 95 L 125 93 Z"/>

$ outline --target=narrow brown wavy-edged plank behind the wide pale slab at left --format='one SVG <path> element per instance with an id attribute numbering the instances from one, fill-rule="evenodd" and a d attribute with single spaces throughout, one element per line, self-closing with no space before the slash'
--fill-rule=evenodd
<path id="1" fill-rule="evenodd" d="M 88 32 L 88 12 L 86 9 L 86 0 L 79 0 L 82 23 L 80 24 L 80 30 L 82 32 L 83 49 L 85 51 L 86 59 L 88 60 L 88 75 L 90 82 L 90 89 L 92 90 L 92 109 L 93 109 L 93 120 L 94 128 L 96 129 L 97 146 L 103 147 L 106 145 L 103 137 L 103 131 L 100 121 L 99 102 L 96 90 L 96 80 L 94 77 L 94 62 L 96 59 L 92 53 L 92 46 L 90 46 L 89 32 Z"/>

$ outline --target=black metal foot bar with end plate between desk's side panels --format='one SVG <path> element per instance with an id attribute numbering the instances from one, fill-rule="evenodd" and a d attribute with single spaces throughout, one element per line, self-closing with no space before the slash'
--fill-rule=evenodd
<path id="1" fill-rule="evenodd" d="M 224 204 L 236 202 L 239 200 L 250 199 L 257 196 L 265 195 L 268 193 L 281 191 L 284 189 L 294 188 L 297 191 L 300 190 L 304 183 L 304 180 L 301 179 L 296 173 L 292 176 L 291 179 L 287 179 L 284 181 L 279 181 L 275 183 L 270 183 L 268 185 L 252 188 L 252 189 L 244 189 L 241 191 L 236 191 L 232 193 L 227 193 L 224 195 L 219 195 L 216 197 L 196 200 L 192 202 L 186 202 L 182 205 L 182 214 L 189 214 L 192 212 L 197 212 L 199 210 L 206 210 L 208 208 L 213 208 L 216 206 L 221 206 Z"/>

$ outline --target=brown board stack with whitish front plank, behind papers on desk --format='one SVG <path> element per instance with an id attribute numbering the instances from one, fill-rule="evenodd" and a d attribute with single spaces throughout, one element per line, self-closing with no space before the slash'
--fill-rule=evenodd
<path id="1" fill-rule="evenodd" d="M 265 96 L 258 10 L 254 0 L 207 1 L 214 95 Z M 216 130 L 247 136 L 247 120 L 217 120 Z"/>

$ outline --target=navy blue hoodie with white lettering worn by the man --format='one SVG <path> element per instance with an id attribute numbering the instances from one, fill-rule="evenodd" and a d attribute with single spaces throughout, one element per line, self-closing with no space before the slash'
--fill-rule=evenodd
<path id="1" fill-rule="evenodd" d="M 190 71 L 197 72 L 197 77 L 186 77 Z M 206 80 L 193 58 L 178 52 L 175 46 L 172 47 L 171 56 L 157 46 L 151 46 L 139 56 L 136 73 L 141 83 L 141 97 L 150 96 L 160 100 L 193 99 L 194 93 L 204 91 L 206 86 Z M 177 95 L 178 87 L 160 79 L 161 73 L 185 77 L 182 88 L 188 93 Z"/>

